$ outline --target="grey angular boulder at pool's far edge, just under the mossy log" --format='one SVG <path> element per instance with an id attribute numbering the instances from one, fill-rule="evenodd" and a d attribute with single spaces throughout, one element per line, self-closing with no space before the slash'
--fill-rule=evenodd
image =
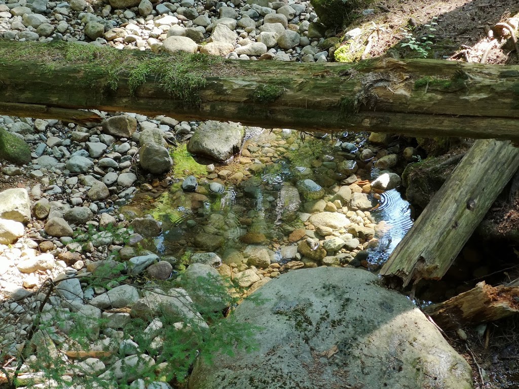
<path id="1" fill-rule="evenodd" d="M 208 120 L 198 126 L 187 151 L 224 162 L 240 151 L 244 135 L 245 129 L 238 123 Z"/>

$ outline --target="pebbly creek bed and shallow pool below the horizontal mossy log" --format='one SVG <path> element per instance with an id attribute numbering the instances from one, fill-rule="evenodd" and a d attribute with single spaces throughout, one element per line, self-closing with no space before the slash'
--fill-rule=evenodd
<path id="1" fill-rule="evenodd" d="M 369 253 L 387 225 L 371 210 L 384 196 L 377 191 L 400 185 L 397 174 L 380 171 L 404 162 L 391 154 L 400 146 L 388 150 L 346 134 L 303 140 L 291 130 L 101 114 L 103 125 L 90 128 L 0 119 L 10 144 L 23 138 L 29 145 L 7 150 L 4 157 L 17 163 L 1 166 L 3 181 L 12 183 L 0 192 L 4 355 L 16 356 L 23 347 L 45 298 L 46 288 L 38 289 L 45 280 L 56 283 L 45 308 L 56 337 L 47 341 L 67 338 L 55 315 L 115 321 L 104 329 L 92 322 L 86 365 L 70 352 L 67 359 L 101 375 L 117 369 L 120 359 L 101 358 L 105 351 L 96 342 L 127 342 L 114 328 L 137 317 L 135 307 L 156 312 L 158 296 L 143 294 L 135 287 L 139 282 L 91 284 L 89 277 L 103 269 L 157 283 L 177 272 L 210 272 L 234 279 L 233 293 L 245 297 L 289 270 L 377 268 Z M 166 140 L 178 144 L 168 149 Z M 373 140 L 384 141 L 376 135 Z M 199 164 L 187 150 L 214 162 Z M 363 179 L 372 171 L 380 177 Z M 179 293 L 182 305 L 192 307 L 187 319 L 202 323 L 191 305 L 196 293 Z M 178 297 L 160 303 L 185 320 Z M 16 360 L 9 365 L 14 368 Z"/>

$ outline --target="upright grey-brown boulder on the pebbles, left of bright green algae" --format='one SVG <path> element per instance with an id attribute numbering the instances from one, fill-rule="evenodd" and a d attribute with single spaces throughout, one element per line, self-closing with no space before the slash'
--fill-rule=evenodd
<path id="1" fill-rule="evenodd" d="M 173 166 L 173 159 L 164 145 L 164 135 L 158 128 L 148 128 L 139 137 L 141 166 L 153 174 L 168 172 Z"/>

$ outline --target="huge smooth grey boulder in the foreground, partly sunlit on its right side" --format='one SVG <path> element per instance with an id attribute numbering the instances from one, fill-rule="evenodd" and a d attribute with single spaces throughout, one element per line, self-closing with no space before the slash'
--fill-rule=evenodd
<path id="1" fill-rule="evenodd" d="M 257 349 L 198 362 L 190 389 L 473 388 L 469 364 L 438 329 L 367 271 L 293 271 L 258 293 L 261 305 L 235 311 L 257 326 Z"/>

